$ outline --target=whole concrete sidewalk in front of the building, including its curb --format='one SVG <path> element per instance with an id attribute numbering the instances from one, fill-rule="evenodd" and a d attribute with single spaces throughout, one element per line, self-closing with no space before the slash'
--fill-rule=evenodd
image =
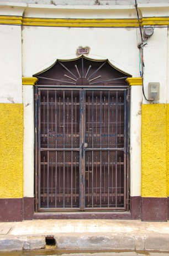
<path id="1" fill-rule="evenodd" d="M 169 222 L 50 219 L 0 223 L 3 252 L 45 248 L 46 237 L 54 238 L 58 249 L 169 252 Z"/>

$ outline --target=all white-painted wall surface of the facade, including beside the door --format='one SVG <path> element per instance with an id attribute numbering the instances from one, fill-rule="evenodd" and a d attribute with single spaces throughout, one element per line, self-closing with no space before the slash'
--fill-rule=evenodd
<path id="1" fill-rule="evenodd" d="M 45 0 L 44 0 L 45 1 Z M 27 1 L 32 2 L 34 1 Z M 57 1 L 59 2 L 59 1 Z M 76 2 L 76 1 L 74 1 Z M 120 1 L 118 1 L 120 2 Z M 21 4 L 2 7 L 1 15 L 41 18 L 136 18 L 135 7 L 119 6 L 54 6 Z M 129 3 L 130 1 L 128 1 Z M 139 1 L 138 1 L 139 2 Z M 156 1 L 157 2 L 157 1 Z M 1 1 L 0 1 L 1 3 Z M 45 1 L 45 3 L 48 3 Z M 109 2 L 110 3 L 110 2 Z M 17 5 L 17 4 L 16 4 Z M 169 6 L 138 5 L 143 17 L 167 16 Z M 34 93 L 32 86 L 23 86 L 22 76 L 49 67 L 56 59 L 76 58 L 79 46 L 89 47 L 89 58 L 109 61 L 133 77 L 139 77 L 140 34 L 138 28 L 62 28 L 31 26 L 0 26 L 0 102 L 24 104 L 24 197 L 34 195 Z M 167 28 L 155 27 L 153 36 L 144 47 L 144 88 L 160 82 L 159 103 L 169 102 L 169 36 Z M 140 195 L 141 185 L 141 112 L 142 87 L 131 87 L 130 106 L 130 192 Z M 143 99 L 143 103 L 147 103 Z"/>

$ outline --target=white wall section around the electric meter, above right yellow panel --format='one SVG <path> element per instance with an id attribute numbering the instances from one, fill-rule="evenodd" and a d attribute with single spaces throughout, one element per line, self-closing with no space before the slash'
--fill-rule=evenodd
<path id="1" fill-rule="evenodd" d="M 167 28 L 155 28 L 154 34 L 144 47 L 144 88 L 148 97 L 148 84 L 160 83 L 159 103 L 167 101 Z M 147 103 L 143 99 L 143 103 Z"/>

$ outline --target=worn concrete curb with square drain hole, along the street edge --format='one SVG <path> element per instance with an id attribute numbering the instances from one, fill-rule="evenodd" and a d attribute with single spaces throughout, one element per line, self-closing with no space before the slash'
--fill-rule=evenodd
<path id="1" fill-rule="evenodd" d="M 0 252 L 36 250 L 46 247 L 48 236 L 0 238 Z M 168 234 L 55 234 L 57 249 L 147 250 L 169 252 Z M 49 245 L 48 245 L 49 246 Z M 49 248 L 49 247 L 47 247 Z M 52 247 L 54 248 L 54 247 Z"/>

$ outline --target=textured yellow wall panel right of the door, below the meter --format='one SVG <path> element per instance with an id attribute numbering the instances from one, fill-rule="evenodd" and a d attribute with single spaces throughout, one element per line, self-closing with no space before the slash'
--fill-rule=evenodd
<path id="1" fill-rule="evenodd" d="M 141 196 L 167 196 L 167 104 L 143 104 L 141 121 Z"/>

